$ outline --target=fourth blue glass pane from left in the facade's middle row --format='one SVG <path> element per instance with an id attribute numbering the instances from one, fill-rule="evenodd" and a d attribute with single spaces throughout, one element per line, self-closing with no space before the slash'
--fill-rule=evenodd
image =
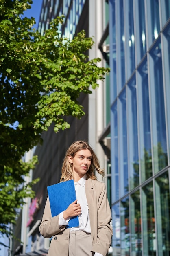
<path id="1" fill-rule="evenodd" d="M 139 68 L 139 140 L 142 182 L 152 176 L 152 153 L 150 139 L 150 107 L 148 90 L 148 62 L 145 59 Z"/>

